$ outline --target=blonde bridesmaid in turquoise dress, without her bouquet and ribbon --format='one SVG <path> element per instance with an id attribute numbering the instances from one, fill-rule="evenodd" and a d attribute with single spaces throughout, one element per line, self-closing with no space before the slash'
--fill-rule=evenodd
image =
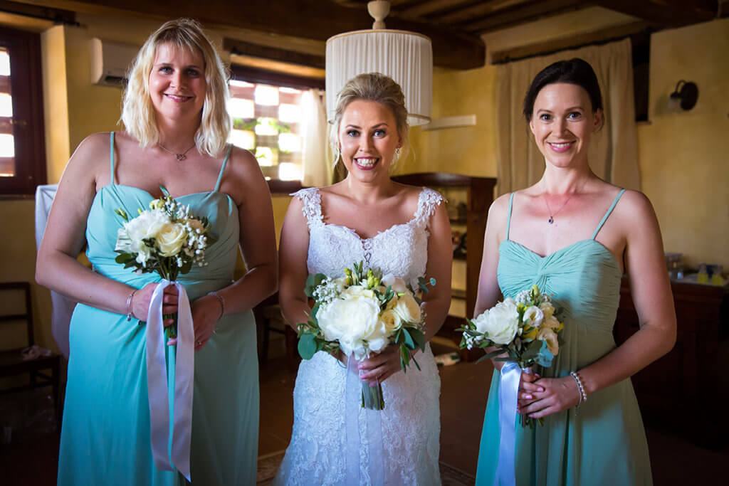
<path id="1" fill-rule="evenodd" d="M 195 329 L 191 480 L 255 484 L 259 395 L 251 309 L 276 289 L 276 243 L 257 161 L 226 144 L 227 98 L 225 69 L 200 25 L 165 23 L 130 72 L 126 131 L 86 138 L 63 173 L 36 271 L 39 283 L 81 302 L 71 320 L 59 485 L 186 483 L 178 471 L 157 469 L 150 445 L 143 321 L 160 277 L 114 262 L 122 224 L 114 209 L 134 215 L 160 197 L 160 186 L 207 217 L 219 238 L 206 250 L 208 265 L 178 279 Z M 91 270 L 76 259 L 84 244 Z M 248 271 L 233 281 L 239 247 Z M 175 313 L 177 301 L 168 286 L 163 313 Z M 175 350 L 174 343 L 166 348 L 168 365 Z"/>

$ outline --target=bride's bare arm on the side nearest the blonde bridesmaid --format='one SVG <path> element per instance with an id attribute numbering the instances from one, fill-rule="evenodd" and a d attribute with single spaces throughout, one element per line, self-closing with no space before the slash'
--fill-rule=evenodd
<path id="1" fill-rule="evenodd" d="M 281 229 L 281 268 L 278 272 L 278 302 L 289 326 L 297 331 L 297 324 L 308 321 L 311 309 L 304 293 L 308 269 L 306 258 L 309 250 L 309 230 L 302 213 L 303 203 L 294 197 L 286 211 Z"/>

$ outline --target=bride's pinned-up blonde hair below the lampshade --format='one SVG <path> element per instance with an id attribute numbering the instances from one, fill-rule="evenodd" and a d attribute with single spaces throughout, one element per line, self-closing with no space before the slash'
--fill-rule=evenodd
<path id="1" fill-rule="evenodd" d="M 397 135 L 402 141 L 402 149 L 399 154 L 395 152 L 390 165 L 390 171 L 392 171 L 397 161 L 404 159 L 410 153 L 408 138 L 410 125 L 408 125 L 408 109 L 405 108 L 405 95 L 402 93 L 402 88 L 391 77 L 381 73 L 358 74 L 346 82 L 337 95 L 337 109 L 329 133 L 334 165 L 336 166 L 342 160 L 339 148 L 339 126 L 342 122 L 342 115 L 349 103 L 356 100 L 377 101 L 386 106 L 394 115 Z"/>

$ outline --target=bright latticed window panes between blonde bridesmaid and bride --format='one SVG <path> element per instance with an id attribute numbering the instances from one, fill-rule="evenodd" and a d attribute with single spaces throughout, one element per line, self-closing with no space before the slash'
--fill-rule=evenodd
<path id="1" fill-rule="evenodd" d="M 231 142 L 255 155 L 266 179 L 300 181 L 303 90 L 234 79 L 230 94 Z"/>

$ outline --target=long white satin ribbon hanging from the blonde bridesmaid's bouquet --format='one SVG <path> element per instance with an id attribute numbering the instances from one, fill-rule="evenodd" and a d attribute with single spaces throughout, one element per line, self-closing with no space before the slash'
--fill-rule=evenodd
<path id="1" fill-rule="evenodd" d="M 174 285 L 177 297 L 177 345 L 175 383 L 172 404 L 168 401 L 167 366 L 165 360 L 165 330 L 162 299 L 165 287 Z M 184 286 L 168 280 L 161 281 L 149 302 L 147 315 L 147 387 L 149 390 L 149 419 L 152 432 L 152 456 L 157 469 L 177 469 L 190 481 L 190 436 L 192 434 L 192 384 L 195 374 L 195 331 L 192 328 L 190 299 Z M 170 405 L 174 410 L 172 449 L 169 450 Z"/>

